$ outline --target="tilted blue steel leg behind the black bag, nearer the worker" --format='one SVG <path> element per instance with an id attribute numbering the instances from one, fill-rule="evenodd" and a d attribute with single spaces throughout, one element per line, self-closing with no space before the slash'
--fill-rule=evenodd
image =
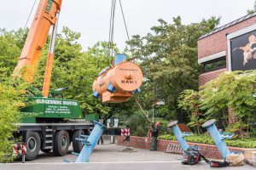
<path id="1" fill-rule="evenodd" d="M 187 143 L 186 139 L 184 139 L 183 133 L 180 131 L 179 127 L 177 127 L 177 121 L 170 122 L 167 127 L 172 129 L 179 145 L 182 147 L 183 150 L 189 149 L 189 144 Z"/>

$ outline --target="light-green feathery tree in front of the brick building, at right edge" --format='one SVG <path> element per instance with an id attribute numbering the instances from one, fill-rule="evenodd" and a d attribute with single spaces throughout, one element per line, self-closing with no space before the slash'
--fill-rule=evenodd
<path id="1" fill-rule="evenodd" d="M 236 116 L 236 123 L 230 124 L 233 132 L 244 132 L 252 129 L 255 116 L 255 71 L 233 71 L 221 74 L 217 79 L 208 82 L 201 90 L 202 110 L 207 116 L 220 117 L 225 109 L 231 108 Z M 226 113 L 224 119 L 228 119 Z M 221 118 L 223 118 L 221 117 Z"/>

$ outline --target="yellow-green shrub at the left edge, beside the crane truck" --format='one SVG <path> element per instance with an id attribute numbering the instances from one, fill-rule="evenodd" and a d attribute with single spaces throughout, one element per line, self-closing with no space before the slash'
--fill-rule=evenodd
<path id="1" fill-rule="evenodd" d="M 19 105 L 23 103 L 21 90 L 24 84 L 5 79 L 0 82 L 0 162 L 13 160 L 13 132 L 20 122 Z"/>

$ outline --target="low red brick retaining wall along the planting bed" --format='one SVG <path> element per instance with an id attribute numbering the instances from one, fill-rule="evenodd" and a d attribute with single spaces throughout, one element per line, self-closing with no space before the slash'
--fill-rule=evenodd
<path id="1" fill-rule="evenodd" d="M 117 137 L 117 144 L 119 145 L 126 145 L 126 143 L 122 143 L 122 141 L 125 139 L 124 136 L 119 136 Z M 157 140 L 157 150 L 160 151 L 165 151 L 168 144 L 176 144 L 178 145 L 177 141 L 173 140 L 163 140 L 163 139 L 158 139 Z M 220 152 L 218 151 L 218 148 L 213 145 L 213 144 L 197 144 L 197 143 L 188 143 L 190 146 L 196 145 L 199 146 L 201 149 L 201 153 L 204 156 L 207 156 L 207 158 L 212 158 L 212 159 L 222 159 Z M 131 136 L 130 139 L 130 146 L 134 148 L 140 148 L 144 150 L 149 150 L 151 149 L 151 141 L 148 140 L 148 138 L 142 138 L 142 137 L 136 137 L 136 136 Z M 236 148 L 236 147 L 229 147 L 230 151 L 241 151 L 245 152 L 247 149 L 243 148 Z M 180 153 L 177 153 L 180 154 Z"/>

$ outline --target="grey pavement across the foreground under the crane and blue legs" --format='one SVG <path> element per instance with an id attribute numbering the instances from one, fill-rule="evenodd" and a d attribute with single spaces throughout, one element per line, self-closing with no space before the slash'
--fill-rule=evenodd
<path id="1" fill-rule="evenodd" d="M 194 166 L 182 165 L 178 158 L 180 155 L 167 154 L 163 151 L 150 151 L 134 149 L 137 152 L 121 152 L 124 146 L 116 144 L 97 145 L 96 149 L 90 156 L 90 163 L 73 163 L 77 156 L 71 154 L 70 148 L 67 156 L 56 157 L 53 153 L 40 153 L 34 161 L 26 161 L 25 164 L 15 161 L 9 164 L 0 164 L 0 170 L 87 170 L 87 169 L 104 169 L 104 170 L 156 170 L 156 169 L 185 169 L 185 170 L 206 170 L 211 169 L 205 161 Z M 64 160 L 71 161 L 66 163 Z M 255 167 L 248 165 L 242 167 L 224 167 L 227 170 L 250 170 Z"/>

